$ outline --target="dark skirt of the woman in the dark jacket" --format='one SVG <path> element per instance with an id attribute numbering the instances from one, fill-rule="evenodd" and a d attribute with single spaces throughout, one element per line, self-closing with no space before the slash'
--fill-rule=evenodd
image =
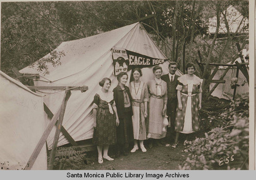
<path id="1" fill-rule="evenodd" d="M 131 108 L 124 109 L 124 118 L 119 119 L 117 127 L 117 143 L 129 147 L 129 143 L 133 142 L 133 121 Z"/>

